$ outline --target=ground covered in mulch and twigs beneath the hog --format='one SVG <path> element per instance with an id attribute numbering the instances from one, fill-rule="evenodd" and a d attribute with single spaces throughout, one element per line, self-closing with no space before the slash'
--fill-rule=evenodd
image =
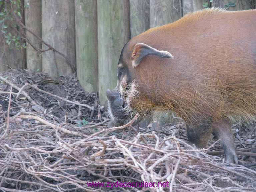
<path id="1" fill-rule="evenodd" d="M 76 75 L 1 73 L 0 192 L 256 191 L 255 157 L 225 163 L 215 139 L 208 149 L 190 145 L 177 117 L 147 127 L 134 120 L 108 128 L 97 95 L 86 93 Z M 241 154 L 256 146 L 255 125 L 234 123 L 233 133 Z M 107 187 L 117 181 L 168 181 L 169 187 Z"/>

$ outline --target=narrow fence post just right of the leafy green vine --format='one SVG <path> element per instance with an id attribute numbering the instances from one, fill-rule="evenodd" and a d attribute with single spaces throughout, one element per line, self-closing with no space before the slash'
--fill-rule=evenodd
<path id="1" fill-rule="evenodd" d="M 42 37 L 42 4 L 41 0 L 24 0 L 25 25 L 36 35 Z M 33 43 L 33 46 L 42 48 L 42 44 L 34 35 L 27 32 L 26 36 Z M 31 72 L 42 71 L 42 56 L 31 45 L 27 43 L 27 69 Z"/>

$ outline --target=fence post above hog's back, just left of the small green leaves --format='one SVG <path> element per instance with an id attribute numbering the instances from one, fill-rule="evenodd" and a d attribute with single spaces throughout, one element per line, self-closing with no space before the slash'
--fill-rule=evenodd
<path id="1" fill-rule="evenodd" d="M 183 16 L 192 13 L 195 11 L 198 11 L 200 9 L 203 9 L 203 3 L 205 3 L 205 0 L 183 0 L 182 1 L 182 7 L 183 7 Z"/>

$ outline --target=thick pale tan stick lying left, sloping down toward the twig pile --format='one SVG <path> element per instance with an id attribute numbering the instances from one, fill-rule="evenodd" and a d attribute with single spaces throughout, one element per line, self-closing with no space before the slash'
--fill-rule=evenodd
<path id="1" fill-rule="evenodd" d="M 63 133 L 67 133 L 67 134 L 75 135 L 75 136 L 80 136 L 80 137 L 81 136 L 85 136 L 85 135 L 83 135 L 81 133 L 77 133 L 75 131 L 70 131 L 70 130 L 67 130 L 67 129 L 63 128 L 63 127 L 57 127 L 53 123 L 50 123 L 50 122 L 46 121 L 45 119 L 43 119 L 41 117 L 38 117 L 38 116 L 35 116 L 35 115 L 19 115 L 17 118 L 21 118 L 21 119 L 34 119 L 34 120 L 39 121 L 42 124 L 48 125 L 49 127 L 53 128 L 53 129 L 61 130 Z"/>

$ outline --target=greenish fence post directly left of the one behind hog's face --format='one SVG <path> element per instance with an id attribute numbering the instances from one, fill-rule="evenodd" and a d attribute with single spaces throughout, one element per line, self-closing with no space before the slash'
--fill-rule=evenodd
<path id="1" fill-rule="evenodd" d="M 75 0 L 77 76 L 88 92 L 98 91 L 97 1 Z"/>

